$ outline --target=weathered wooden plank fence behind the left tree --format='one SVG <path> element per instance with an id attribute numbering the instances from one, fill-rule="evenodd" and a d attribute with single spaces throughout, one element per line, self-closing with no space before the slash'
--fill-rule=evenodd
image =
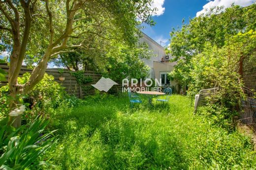
<path id="1" fill-rule="evenodd" d="M 6 64 L 0 64 L 0 68 L 3 69 L 5 72 L 8 73 L 9 71 L 9 66 L 7 66 Z M 21 72 L 19 76 L 22 76 L 24 73 L 29 72 L 31 73 L 32 70 L 28 69 L 26 66 L 23 66 L 21 68 Z M 79 86 L 79 84 L 76 81 L 76 77 L 74 77 L 73 75 L 70 74 L 70 72 L 73 71 L 68 71 L 68 70 L 64 70 L 61 76 L 61 73 L 59 73 L 58 69 L 47 69 L 46 73 L 49 75 L 53 75 L 54 76 L 54 80 L 58 83 L 60 83 L 64 88 L 65 91 L 67 92 L 67 94 L 69 95 L 75 95 L 76 97 L 84 97 L 86 95 L 93 95 L 95 93 L 95 89 L 91 84 L 96 84 L 96 82 L 100 79 L 101 75 L 97 74 L 93 71 L 86 71 L 84 74 L 85 76 L 91 76 L 93 78 L 93 82 L 91 83 L 87 83 L 83 86 L 88 87 L 88 90 L 86 90 L 86 92 L 84 92 L 82 90 L 82 87 Z M 59 77 L 65 77 L 64 81 L 60 81 Z M 8 75 L 6 75 L 6 80 L 8 79 Z M 0 86 L 4 86 L 6 85 L 7 82 L 1 82 Z"/>

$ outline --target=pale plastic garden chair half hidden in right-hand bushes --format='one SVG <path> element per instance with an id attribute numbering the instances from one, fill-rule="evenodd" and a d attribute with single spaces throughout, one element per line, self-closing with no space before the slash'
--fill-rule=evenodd
<path id="1" fill-rule="evenodd" d="M 194 97 L 194 114 L 196 114 L 197 108 L 199 106 L 205 106 L 208 103 L 207 97 L 210 97 L 215 92 L 217 92 L 217 88 L 203 89 L 203 90 L 200 90 L 199 94 L 195 95 L 195 97 Z"/>

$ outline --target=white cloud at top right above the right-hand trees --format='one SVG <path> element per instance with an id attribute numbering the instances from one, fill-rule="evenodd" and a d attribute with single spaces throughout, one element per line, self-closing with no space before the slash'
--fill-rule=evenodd
<path id="1" fill-rule="evenodd" d="M 232 3 L 234 3 L 235 5 L 240 5 L 240 6 L 249 6 L 253 3 L 255 3 L 256 0 L 211 0 L 208 3 L 206 3 L 203 6 L 203 9 L 199 12 L 196 13 L 196 17 L 198 17 L 199 15 L 203 14 L 203 13 L 207 13 L 207 10 L 214 8 L 216 6 L 223 6 L 224 9 L 228 8 L 232 5 Z"/>

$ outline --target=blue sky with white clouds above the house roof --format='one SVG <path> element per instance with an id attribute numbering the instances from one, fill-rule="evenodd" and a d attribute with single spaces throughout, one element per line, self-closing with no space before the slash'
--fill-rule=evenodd
<path id="1" fill-rule="evenodd" d="M 159 10 L 153 16 L 156 25 L 142 30 L 162 46 L 167 46 L 170 39 L 170 31 L 172 28 L 181 27 L 182 20 L 189 22 L 189 18 L 194 18 L 205 10 L 214 6 L 229 7 L 232 3 L 240 6 L 248 6 L 255 3 L 256 0 L 154 0 L 152 7 Z M 144 25 L 145 26 L 145 25 Z"/>

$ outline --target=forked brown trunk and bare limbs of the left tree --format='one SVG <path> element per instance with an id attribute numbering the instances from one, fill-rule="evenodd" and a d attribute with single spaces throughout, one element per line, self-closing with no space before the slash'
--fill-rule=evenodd
<path id="1" fill-rule="evenodd" d="M 24 85 L 19 85 L 17 82 L 17 78 L 21 71 L 22 63 L 27 50 L 27 44 L 28 44 L 30 29 L 32 24 L 32 13 L 33 13 L 32 9 L 35 3 L 32 3 L 30 0 L 20 0 L 19 2 L 21 5 L 18 4 L 18 1 L 17 3 L 15 2 L 15 4 L 19 6 L 18 8 L 16 7 L 16 5 L 14 5 L 14 3 L 11 0 L 4 0 L 1 2 L 8 3 L 10 7 L 10 8 L 4 9 L 1 6 L 2 4 L 0 5 L 0 11 L 3 13 L 4 17 L 8 20 L 11 26 L 10 31 L 12 34 L 12 41 L 13 41 L 12 52 L 10 55 L 10 68 L 9 68 L 9 78 L 8 78 L 10 96 L 11 96 L 9 107 L 10 107 L 10 110 L 13 110 L 14 108 L 17 108 L 17 104 L 19 104 L 19 97 L 21 95 L 28 94 L 32 90 L 32 88 L 43 78 L 47 68 L 47 62 L 51 57 L 51 55 L 56 54 L 63 49 L 74 48 L 74 46 L 67 47 L 67 40 L 69 38 L 68 36 L 71 35 L 73 31 L 72 25 L 74 22 L 75 13 L 83 5 L 83 2 L 74 1 L 70 9 L 69 0 L 66 0 L 67 16 L 66 16 L 65 31 L 62 35 L 60 35 L 59 38 L 56 39 L 55 42 L 53 42 L 54 27 L 53 27 L 53 21 L 52 21 L 52 13 L 49 8 L 48 0 L 44 1 L 46 12 L 49 17 L 49 24 L 50 24 L 49 25 L 49 35 L 50 35 L 49 45 L 41 61 L 33 69 L 30 79 Z M 20 8 L 23 8 L 23 9 L 19 10 Z M 15 17 L 12 18 L 9 16 L 9 14 L 13 14 Z M 22 14 L 22 16 L 20 16 L 20 14 Z M 20 18 L 22 18 L 23 24 L 20 23 Z M 20 30 L 21 25 L 23 25 L 22 36 L 21 36 L 21 30 Z M 83 45 L 80 44 L 78 46 L 75 46 L 75 48 L 82 47 L 82 46 Z M 76 66 L 76 68 L 78 70 L 78 65 Z M 17 117 L 9 116 L 8 124 L 13 125 L 14 127 L 19 127 L 21 125 L 21 115 Z"/>

